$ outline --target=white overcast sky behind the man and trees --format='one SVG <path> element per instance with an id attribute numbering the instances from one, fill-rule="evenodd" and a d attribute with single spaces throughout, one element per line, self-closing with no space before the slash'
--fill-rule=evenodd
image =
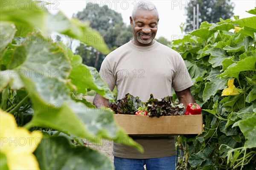
<path id="1" fill-rule="evenodd" d="M 156 37 L 165 37 L 168 40 L 175 40 L 177 37 L 182 37 L 180 24 L 186 23 L 186 8 L 192 6 L 189 0 L 150 0 L 158 9 L 160 20 Z M 48 1 L 47 1 L 48 2 Z M 135 0 L 51 0 L 53 4 L 48 6 L 52 13 L 61 10 L 67 17 L 71 18 L 74 13 L 82 11 L 86 5 L 98 3 L 100 5 L 108 5 L 110 9 L 116 10 L 122 14 L 123 21 L 126 25 L 129 24 L 129 17 L 134 8 Z M 231 5 L 223 1 L 225 6 Z M 245 11 L 249 11 L 256 6 L 256 0 L 231 0 L 235 8 L 234 15 L 239 15 L 240 18 L 252 17 Z M 100 8 L 100 6 L 98 7 Z"/>

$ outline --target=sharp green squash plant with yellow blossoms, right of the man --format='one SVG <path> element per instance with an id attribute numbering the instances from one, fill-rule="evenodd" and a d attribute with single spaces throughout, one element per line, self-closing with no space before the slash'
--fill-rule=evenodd
<path id="1" fill-rule="evenodd" d="M 174 40 L 202 107 L 204 132 L 178 136 L 177 169 L 255 169 L 256 9 L 252 17 L 201 23 Z"/>

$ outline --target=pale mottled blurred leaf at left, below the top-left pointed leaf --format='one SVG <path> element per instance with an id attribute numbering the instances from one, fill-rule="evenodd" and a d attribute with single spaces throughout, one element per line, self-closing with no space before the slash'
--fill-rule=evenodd
<path id="1" fill-rule="evenodd" d="M 9 66 L 14 69 L 19 66 L 22 77 L 49 77 L 67 79 L 71 66 L 67 55 L 62 51 L 58 44 L 49 43 L 42 36 L 41 43 L 38 37 L 30 37 L 31 41 L 22 46 L 18 46 L 12 56 L 12 64 Z"/>

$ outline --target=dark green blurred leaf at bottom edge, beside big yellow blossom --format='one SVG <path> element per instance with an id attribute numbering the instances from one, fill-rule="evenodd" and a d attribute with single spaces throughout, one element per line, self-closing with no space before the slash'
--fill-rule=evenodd
<path id="1" fill-rule="evenodd" d="M 35 150 L 41 170 L 113 170 L 112 162 L 89 147 L 74 147 L 63 136 L 42 138 Z"/>

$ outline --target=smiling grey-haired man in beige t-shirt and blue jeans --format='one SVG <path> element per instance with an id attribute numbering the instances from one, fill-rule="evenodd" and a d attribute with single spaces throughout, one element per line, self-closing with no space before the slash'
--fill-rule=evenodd
<path id="1" fill-rule="evenodd" d="M 150 3 L 141 1 L 130 17 L 134 38 L 111 52 L 102 62 L 101 76 L 113 90 L 117 88 L 117 99 L 130 93 L 147 101 L 152 93 L 154 98 L 172 95 L 172 87 L 186 107 L 195 103 L 189 87 L 193 85 L 182 57 L 154 37 L 157 33 L 158 12 Z M 108 106 L 108 100 L 96 95 L 96 107 Z M 116 170 L 175 170 L 174 136 L 150 137 L 131 136 L 144 147 L 145 152 L 122 144 L 113 144 Z"/>

